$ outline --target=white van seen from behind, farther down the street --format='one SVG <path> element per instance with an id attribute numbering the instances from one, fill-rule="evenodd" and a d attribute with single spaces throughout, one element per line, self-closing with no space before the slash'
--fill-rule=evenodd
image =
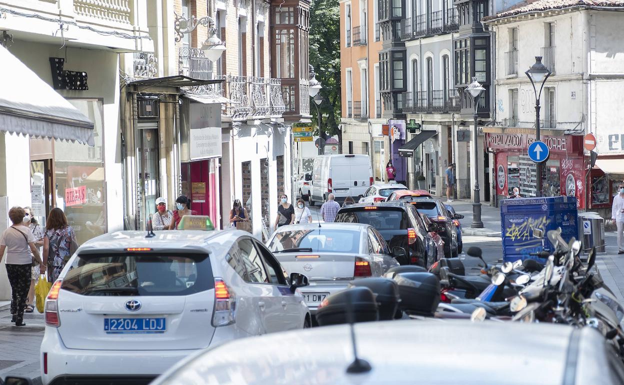
<path id="1" fill-rule="evenodd" d="M 333 193 L 338 202 L 346 197 L 358 202 L 358 197 L 372 184 L 373 169 L 368 155 L 319 155 L 314 158 L 308 202 L 310 206 L 314 206 L 314 202 L 325 202 L 329 193 Z"/>

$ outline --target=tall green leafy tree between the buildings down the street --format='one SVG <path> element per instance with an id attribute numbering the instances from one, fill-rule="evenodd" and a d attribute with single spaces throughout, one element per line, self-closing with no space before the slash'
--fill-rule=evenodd
<path id="1" fill-rule="evenodd" d="M 313 0 L 310 12 L 310 64 L 323 87 L 319 135 L 340 134 L 340 5 L 338 0 Z M 316 104 L 310 100 L 312 124 L 318 125 Z"/>

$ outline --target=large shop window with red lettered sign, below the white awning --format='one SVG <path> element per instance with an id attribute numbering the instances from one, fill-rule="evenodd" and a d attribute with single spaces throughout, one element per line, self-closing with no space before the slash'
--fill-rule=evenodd
<path id="1" fill-rule="evenodd" d="M 85 241 L 107 232 L 107 205 L 104 182 L 104 137 L 102 100 L 68 100 L 94 122 L 94 150 L 72 142 L 54 143 L 56 205 L 76 231 L 76 240 Z"/>

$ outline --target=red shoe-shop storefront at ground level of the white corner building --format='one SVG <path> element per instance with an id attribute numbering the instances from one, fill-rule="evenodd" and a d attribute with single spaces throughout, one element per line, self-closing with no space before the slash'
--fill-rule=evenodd
<path id="1" fill-rule="evenodd" d="M 542 196 L 573 196 L 577 198 L 577 207 L 585 208 L 587 167 L 583 137 L 542 135 L 541 139 L 550 149 L 550 157 L 542 163 Z M 514 187 L 520 189 L 522 197 L 537 195 L 537 168 L 527 154 L 534 141 L 534 134 L 485 134 L 487 150 L 495 154 L 493 180 L 499 200 L 511 195 Z"/>

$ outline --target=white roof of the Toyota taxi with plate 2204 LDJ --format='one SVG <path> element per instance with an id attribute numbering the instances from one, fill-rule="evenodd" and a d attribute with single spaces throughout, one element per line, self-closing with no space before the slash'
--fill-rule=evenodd
<path id="1" fill-rule="evenodd" d="M 155 236 L 145 238 L 147 231 L 115 231 L 89 240 L 78 249 L 80 254 L 100 253 L 105 251 L 121 251 L 129 247 L 149 247 L 157 250 L 180 250 L 207 252 L 210 247 L 208 240 L 223 242 L 230 237 L 245 233 L 238 230 L 177 230 L 154 231 Z M 249 235 L 249 233 L 246 233 Z M 211 242 L 218 243 L 218 242 Z"/>

